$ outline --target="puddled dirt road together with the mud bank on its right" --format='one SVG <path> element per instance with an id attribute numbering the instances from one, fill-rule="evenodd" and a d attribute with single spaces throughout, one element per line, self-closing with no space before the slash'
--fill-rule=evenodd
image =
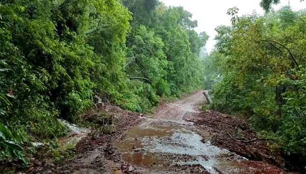
<path id="1" fill-rule="evenodd" d="M 197 104 L 204 101 L 199 91 L 158 107 L 155 114 L 117 141 L 123 161 L 140 173 L 286 173 L 263 162 L 275 159 L 265 142 L 244 144 L 235 137 L 238 133 L 240 138 L 256 137 L 243 120 L 219 112 L 200 112 Z M 245 127 L 242 130 L 239 126 Z"/>

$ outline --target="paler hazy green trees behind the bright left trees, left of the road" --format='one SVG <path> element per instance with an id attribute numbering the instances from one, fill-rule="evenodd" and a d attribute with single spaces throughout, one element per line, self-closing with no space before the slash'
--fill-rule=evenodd
<path id="1" fill-rule="evenodd" d="M 151 81 L 159 96 L 176 96 L 201 87 L 200 47 L 208 36 L 192 28 L 197 21 L 182 7 L 165 7 L 158 1 L 123 1 L 133 12 L 127 39 L 127 75 Z"/>

